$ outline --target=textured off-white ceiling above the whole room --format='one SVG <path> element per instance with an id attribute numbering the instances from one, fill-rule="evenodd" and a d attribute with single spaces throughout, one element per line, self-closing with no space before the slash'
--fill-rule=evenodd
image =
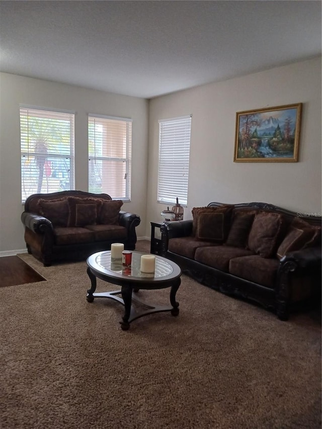
<path id="1" fill-rule="evenodd" d="M 0 70 L 153 98 L 321 54 L 320 1 L 0 1 Z"/>

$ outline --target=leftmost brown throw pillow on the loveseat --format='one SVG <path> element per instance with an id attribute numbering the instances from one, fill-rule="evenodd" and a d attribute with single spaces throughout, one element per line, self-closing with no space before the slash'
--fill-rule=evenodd
<path id="1" fill-rule="evenodd" d="M 68 202 L 66 198 L 57 200 L 39 199 L 37 202 L 39 213 L 50 220 L 53 226 L 67 226 L 68 221 Z"/>

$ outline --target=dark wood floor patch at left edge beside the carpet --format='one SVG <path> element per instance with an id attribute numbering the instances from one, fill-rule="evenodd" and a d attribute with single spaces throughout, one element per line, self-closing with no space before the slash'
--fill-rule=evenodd
<path id="1" fill-rule="evenodd" d="M 0 258 L 0 287 L 41 282 L 44 279 L 18 256 Z"/>

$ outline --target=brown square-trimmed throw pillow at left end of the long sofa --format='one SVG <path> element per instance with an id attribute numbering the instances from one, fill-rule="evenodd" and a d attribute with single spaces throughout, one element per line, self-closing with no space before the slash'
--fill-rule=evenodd
<path id="1" fill-rule="evenodd" d="M 233 205 L 194 207 L 192 235 L 199 240 L 223 242 L 228 234 Z"/>

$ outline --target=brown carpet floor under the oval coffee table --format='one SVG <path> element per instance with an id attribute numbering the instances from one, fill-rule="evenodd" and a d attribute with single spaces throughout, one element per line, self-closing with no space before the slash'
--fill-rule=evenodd
<path id="1" fill-rule="evenodd" d="M 20 256 L 47 281 L 0 288 L 2 429 L 321 427 L 321 327 L 309 313 L 282 322 L 183 275 L 178 317 L 122 331 L 121 304 L 86 301 L 85 262 Z M 97 292 L 115 289 L 98 281 Z M 169 301 L 169 289 L 140 293 Z"/>

